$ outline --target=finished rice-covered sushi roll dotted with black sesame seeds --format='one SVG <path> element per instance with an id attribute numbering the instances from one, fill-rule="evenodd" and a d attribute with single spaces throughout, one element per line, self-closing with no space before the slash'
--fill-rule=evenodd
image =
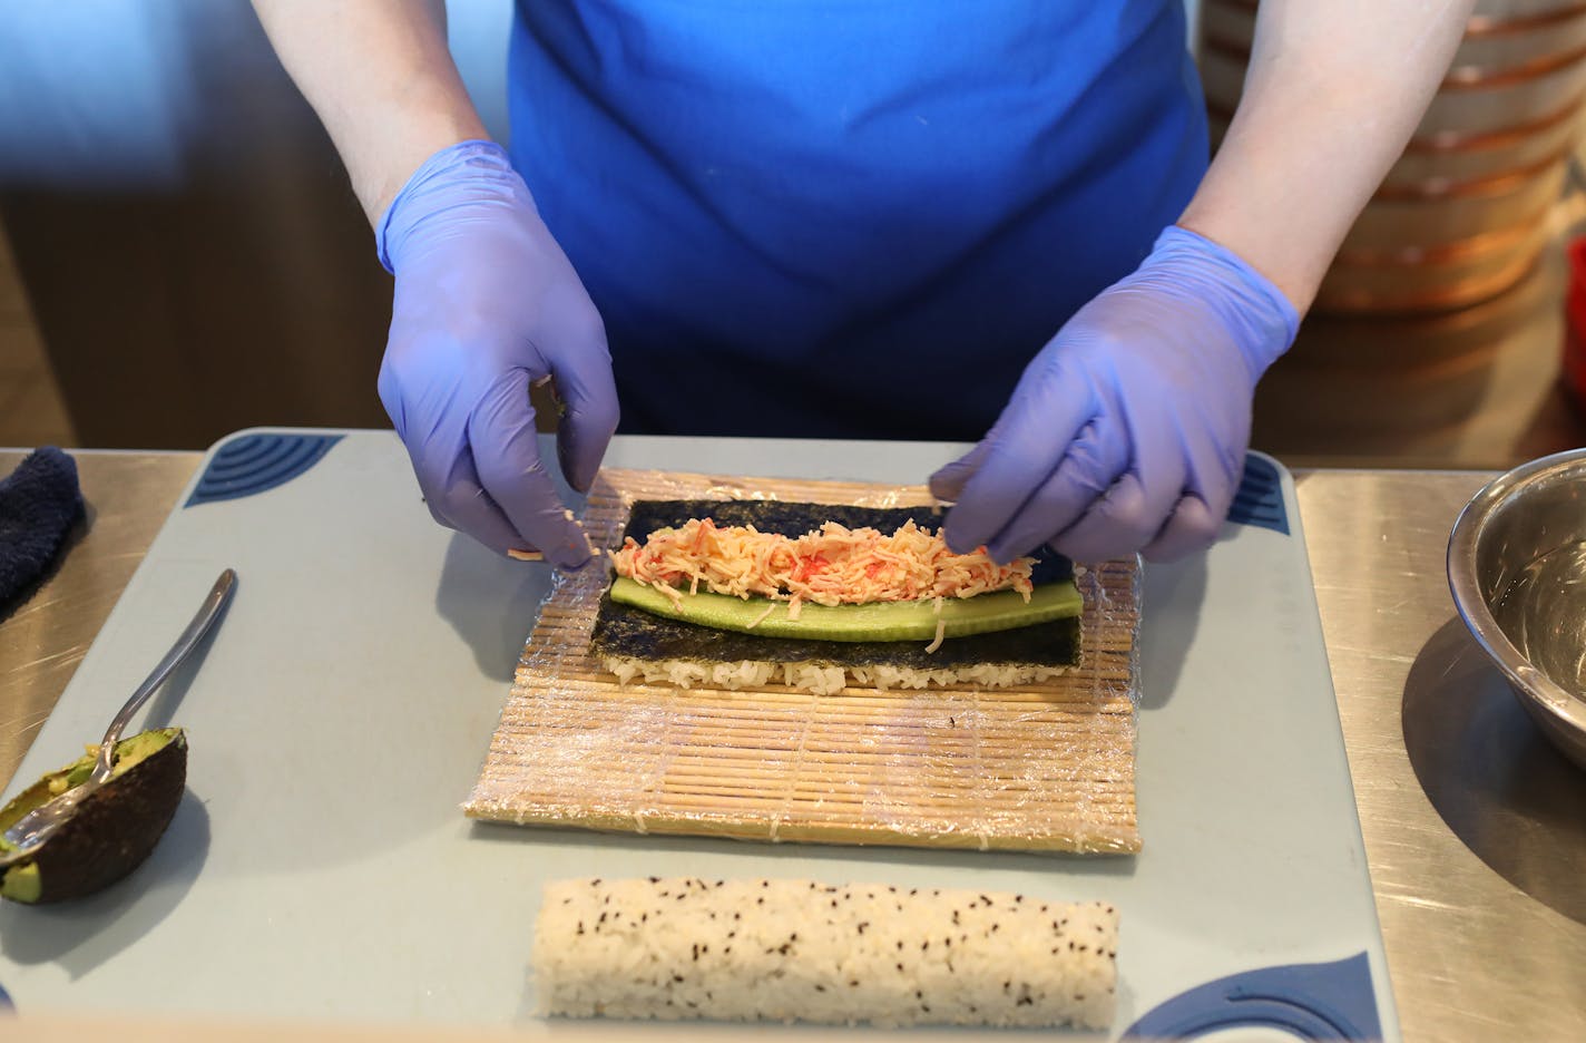
<path id="1" fill-rule="evenodd" d="M 1112 1024 L 1118 914 L 1006 892 L 791 879 L 547 884 L 542 1014 Z"/>

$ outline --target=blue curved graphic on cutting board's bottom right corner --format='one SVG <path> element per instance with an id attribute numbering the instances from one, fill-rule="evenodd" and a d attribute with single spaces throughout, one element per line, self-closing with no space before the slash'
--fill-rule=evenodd
<path id="1" fill-rule="evenodd" d="M 1159 1003 L 1123 1040 L 1182 1040 L 1223 1029 L 1283 1029 L 1301 1040 L 1381 1040 L 1366 953 L 1334 964 L 1262 967 Z"/>

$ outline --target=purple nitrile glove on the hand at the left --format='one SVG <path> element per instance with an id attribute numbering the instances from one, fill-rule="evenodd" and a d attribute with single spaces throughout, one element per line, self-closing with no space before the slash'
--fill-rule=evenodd
<path id="1" fill-rule="evenodd" d="M 430 513 L 485 546 L 541 551 L 560 568 L 590 557 L 539 459 L 531 381 L 565 405 L 561 473 L 595 479 L 617 429 L 606 330 L 528 186 L 501 146 L 431 156 L 376 232 L 396 276 L 379 392 Z"/>

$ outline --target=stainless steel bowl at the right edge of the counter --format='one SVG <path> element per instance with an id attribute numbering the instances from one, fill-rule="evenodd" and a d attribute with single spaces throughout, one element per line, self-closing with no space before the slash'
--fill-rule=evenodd
<path id="1" fill-rule="evenodd" d="M 1586 768 L 1586 449 L 1481 489 L 1448 540 L 1448 587 L 1519 705 Z"/>

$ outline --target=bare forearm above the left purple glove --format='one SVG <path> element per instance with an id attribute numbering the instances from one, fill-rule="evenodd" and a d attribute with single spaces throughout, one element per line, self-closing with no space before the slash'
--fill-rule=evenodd
<path id="1" fill-rule="evenodd" d="M 446 48 L 442 0 L 254 0 L 370 222 L 436 151 L 485 138 Z"/>

